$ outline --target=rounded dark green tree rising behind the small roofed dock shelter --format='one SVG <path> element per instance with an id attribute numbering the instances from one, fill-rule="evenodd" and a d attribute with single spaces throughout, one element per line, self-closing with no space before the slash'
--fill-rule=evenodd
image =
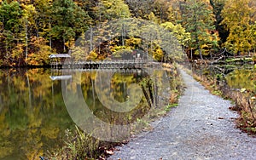
<path id="1" fill-rule="evenodd" d="M 56 0 L 52 6 L 52 14 L 52 34 L 56 39 L 62 40 L 65 52 L 65 43 L 71 47 L 73 39 L 88 28 L 90 17 L 72 0 Z"/>

